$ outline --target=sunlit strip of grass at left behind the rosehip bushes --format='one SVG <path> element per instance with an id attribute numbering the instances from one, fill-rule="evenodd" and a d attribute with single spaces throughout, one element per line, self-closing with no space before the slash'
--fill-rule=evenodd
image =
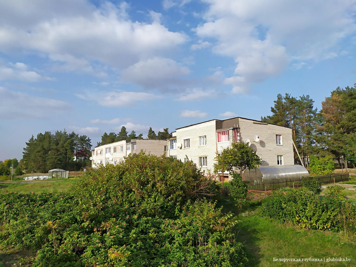
<path id="1" fill-rule="evenodd" d="M 79 180 L 78 177 L 68 179 L 49 179 L 44 181 L 28 181 L 28 182 L 12 182 L 0 183 L 0 194 L 7 194 L 9 192 L 18 193 L 56 193 L 65 192 L 69 187 Z"/>

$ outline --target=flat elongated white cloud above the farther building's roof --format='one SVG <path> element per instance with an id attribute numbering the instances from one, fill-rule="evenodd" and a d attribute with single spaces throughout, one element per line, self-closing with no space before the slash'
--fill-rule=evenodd
<path id="1" fill-rule="evenodd" d="M 76 94 L 80 99 L 96 101 L 101 106 L 123 107 L 134 104 L 136 101 L 150 101 L 161 98 L 159 95 L 143 92 L 84 92 Z"/>

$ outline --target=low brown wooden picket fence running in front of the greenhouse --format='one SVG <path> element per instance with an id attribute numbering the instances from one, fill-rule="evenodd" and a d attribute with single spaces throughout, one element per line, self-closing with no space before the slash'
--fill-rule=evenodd
<path id="1" fill-rule="evenodd" d="M 247 185 L 247 190 L 252 191 L 270 191 L 270 190 L 277 190 L 282 187 L 292 187 L 298 188 L 302 186 L 302 181 L 304 179 L 312 179 L 318 178 L 321 184 L 330 184 L 330 183 L 339 183 L 348 181 L 350 179 L 349 173 L 332 173 L 329 175 L 322 175 L 322 176 L 310 176 L 310 177 L 303 177 L 302 179 L 298 180 L 290 180 L 284 182 L 272 182 L 272 183 L 261 183 L 255 185 Z"/>

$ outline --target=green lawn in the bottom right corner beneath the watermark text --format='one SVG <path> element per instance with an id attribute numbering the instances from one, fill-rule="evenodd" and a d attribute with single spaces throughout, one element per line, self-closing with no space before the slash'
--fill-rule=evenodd
<path id="1" fill-rule="evenodd" d="M 344 234 L 304 230 L 279 224 L 253 211 L 258 203 L 248 201 L 237 218 L 236 240 L 246 245 L 248 266 L 355 266 L 356 242 Z M 234 201 L 219 201 L 225 212 L 237 214 Z M 351 258 L 349 265 L 340 262 L 276 262 L 273 258 Z"/>

